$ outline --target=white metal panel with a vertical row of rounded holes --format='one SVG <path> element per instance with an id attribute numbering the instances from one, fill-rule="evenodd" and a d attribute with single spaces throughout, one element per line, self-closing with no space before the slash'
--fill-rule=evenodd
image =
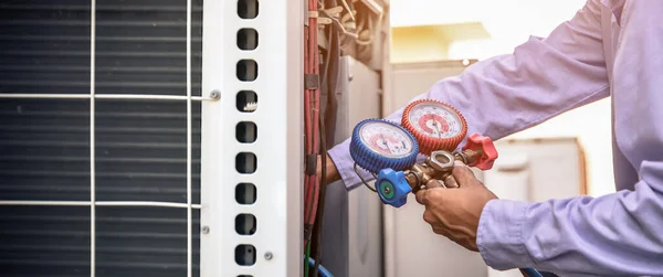
<path id="1" fill-rule="evenodd" d="M 238 17 L 239 2 L 243 1 L 204 1 L 202 92 L 218 90 L 221 99 L 202 107 L 201 225 L 209 233 L 201 237 L 201 276 L 301 276 L 303 1 L 260 1 L 254 19 Z M 257 31 L 255 50 L 238 47 L 241 28 Z M 235 66 L 242 58 L 256 62 L 255 81 L 238 79 Z M 236 94 L 245 89 L 259 95 L 253 113 L 235 107 Z M 233 134 L 240 121 L 257 126 L 255 142 L 238 142 Z M 255 155 L 254 173 L 235 170 L 240 152 Z M 255 184 L 254 204 L 235 201 L 241 182 Z M 256 217 L 253 235 L 235 232 L 240 213 Z M 254 265 L 235 263 L 240 244 L 255 247 Z"/>

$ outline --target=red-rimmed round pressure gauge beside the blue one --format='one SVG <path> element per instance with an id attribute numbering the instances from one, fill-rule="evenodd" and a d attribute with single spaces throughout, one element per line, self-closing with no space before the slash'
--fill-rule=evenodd
<path id="1" fill-rule="evenodd" d="M 403 110 L 401 125 L 419 141 L 419 152 L 453 151 L 467 134 L 467 122 L 459 110 L 433 99 L 415 100 Z"/>

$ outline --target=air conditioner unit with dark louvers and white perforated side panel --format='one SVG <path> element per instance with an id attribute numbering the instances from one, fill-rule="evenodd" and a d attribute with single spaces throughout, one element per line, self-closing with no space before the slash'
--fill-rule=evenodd
<path id="1" fill-rule="evenodd" d="M 0 3 L 0 275 L 298 276 L 303 2 Z"/>

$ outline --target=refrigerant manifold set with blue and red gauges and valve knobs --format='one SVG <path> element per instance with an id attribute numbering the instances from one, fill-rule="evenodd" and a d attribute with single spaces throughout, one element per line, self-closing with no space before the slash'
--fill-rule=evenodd
<path id="1" fill-rule="evenodd" d="M 402 126 L 401 126 L 402 125 Z M 436 187 L 457 188 L 451 174 L 455 160 L 487 170 L 497 159 L 488 137 L 477 134 L 467 138 L 467 122 L 454 107 L 432 99 L 411 103 L 403 110 L 401 125 L 385 119 L 366 119 L 355 127 L 350 156 L 358 168 L 373 174 L 375 188 L 382 203 L 400 207 L 408 193 Z M 418 155 L 425 156 L 418 163 Z M 361 174 L 359 174 L 361 178 Z"/>

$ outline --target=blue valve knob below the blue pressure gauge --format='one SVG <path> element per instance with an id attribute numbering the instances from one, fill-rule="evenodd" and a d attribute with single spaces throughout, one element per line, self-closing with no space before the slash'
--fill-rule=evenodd
<path id="1" fill-rule="evenodd" d="M 412 192 L 406 174 L 390 168 L 380 170 L 376 187 L 382 203 L 396 207 L 404 205 L 408 202 L 408 193 Z"/>

